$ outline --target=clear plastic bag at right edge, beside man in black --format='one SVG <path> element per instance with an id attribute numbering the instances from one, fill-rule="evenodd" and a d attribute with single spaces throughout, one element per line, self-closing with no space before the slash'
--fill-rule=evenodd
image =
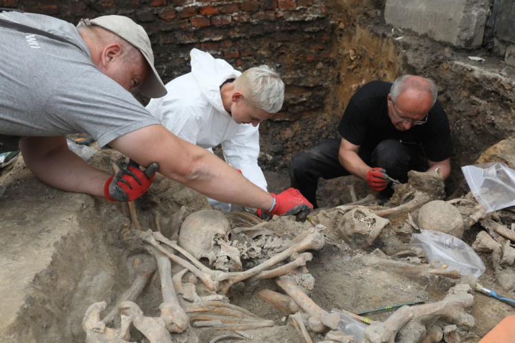
<path id="1" fill-rule="evenodd" d="M 505 163 L 466 165 L 461 171 L 472 196 L 487 213 L 515 206 L 515 170 Z"/>

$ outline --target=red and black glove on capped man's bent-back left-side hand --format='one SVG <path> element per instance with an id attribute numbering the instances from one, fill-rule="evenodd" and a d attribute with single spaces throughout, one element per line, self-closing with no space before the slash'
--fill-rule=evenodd
<path id="1" fill-rule="evenodd" d="M 152 185 L 152 180 L 159 165 L 151 163 L 147 169 L 141 171 L 134 161 L 121 163 L 120 171 L 111 176 L 104 186 L 104 196 L 111 201 L 134 201 L 142 196 Z"/>

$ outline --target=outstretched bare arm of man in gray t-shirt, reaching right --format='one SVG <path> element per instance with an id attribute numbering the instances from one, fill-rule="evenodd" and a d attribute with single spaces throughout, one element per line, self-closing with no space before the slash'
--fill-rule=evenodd
<path id="1" fill-rule="evenodd" d="M 222 202 L 268 210 L 273 197 L 220 158 L 187 143 L 161 125 L 124 134 L 111 147 L 143 166 L 159 163 L 159 172 Z"/>

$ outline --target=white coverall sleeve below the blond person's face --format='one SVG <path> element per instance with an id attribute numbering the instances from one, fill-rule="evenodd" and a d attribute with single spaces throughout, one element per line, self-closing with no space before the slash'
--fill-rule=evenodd
<path id="1" fill-rule="evenodd" d="M 253 127 L 251 124 L 242 124 L 240 130 L 227 141 L 222 142 L 225 161 L 242 171 L 254 185 L 264 191 L 266 180 L 263 171 L 258 165 L 260 154 L 260 132 L 259 126 Z"/>

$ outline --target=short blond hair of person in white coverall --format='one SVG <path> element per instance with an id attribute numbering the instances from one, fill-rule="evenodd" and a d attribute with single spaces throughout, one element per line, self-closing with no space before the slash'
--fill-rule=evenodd
<path id="1" fill-rule="evenodd" d="M 261 65 L 247 69 L 234 81 L 235 91 L 242 91 L 253 108 L 277 113 L 284 102 L 284 82 L 272 68 Z"/>

